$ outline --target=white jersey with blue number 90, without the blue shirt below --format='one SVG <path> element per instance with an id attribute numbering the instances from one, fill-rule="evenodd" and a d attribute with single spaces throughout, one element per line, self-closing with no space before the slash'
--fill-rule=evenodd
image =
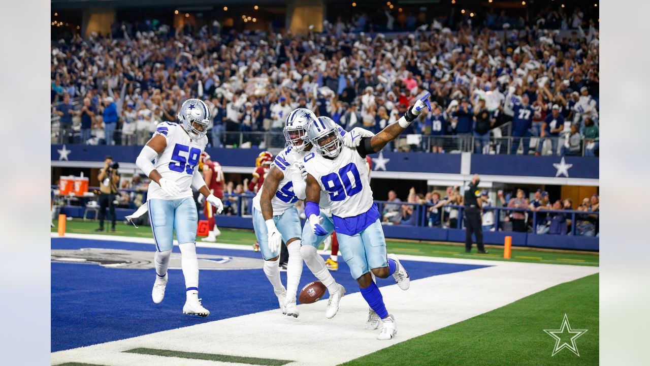
<path id="1" fill-rule="evenodd" d="M 307 173 L 320 186 L 320 198 L 327 197 L 331 214 L 350 218 L 364 214 L 372 207 L 372 190 L 368 166 L 354 148 L 342 147 L 334 159 L 310 152 L 303 159 Z"/>

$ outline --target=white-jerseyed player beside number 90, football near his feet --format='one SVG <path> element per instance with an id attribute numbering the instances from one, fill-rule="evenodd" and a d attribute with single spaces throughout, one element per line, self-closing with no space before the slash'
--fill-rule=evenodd
<path id="1" fill-rule="evenodd" d="M 304 155 L 313 149 L 311 143 L 306 141 L 306 134 L 309 124 L 316 119 L 316 115 L 306 108 L 294 109 L 287 115 L 283 131 L 288 146 L 274 159 L 262 189 L 253 199 L 253 227 L 265 259 L 264 272 L 273 285 L 282 313 L 298 317 L 296 292 L 304 259 L 309 270 L 330 292 L 326 317 L 332 318 L 339 309 L 339 300 L 345 289 L 336 283 L 327 270 L 325 261 L 316 251 L 324 237 L 318 238 L 306 226 L 306 231 L 301 230 L 300 218 L 295 208 L 296 201 L 305 198 L 306 173 L 303 175 L 304 169 L 301 171 L 300 168 Z M 345 134 L 342 129 L 341 131 Z M 359 129 L 356 134 L 372 135 L 363 129 Z M 349 136 L 346 143 L 348 140 L 352 144 Z M 278 266 L 275 264 L 282 240 L 289 251 L 287 289 L 280 282 Z"/>

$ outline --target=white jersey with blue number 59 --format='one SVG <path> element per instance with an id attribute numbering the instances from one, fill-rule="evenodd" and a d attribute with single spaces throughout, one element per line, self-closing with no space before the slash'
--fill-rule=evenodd
<path id="1" fill-rule="evenodd" d="M 164 193 L 156 183 L 149 184 L 147 199 L 178 199 L 192 197 L 192 175 L 198 169 L 199 157 L 207 145 L 207 137 L 194 140 L 182 126 L 172 122 L 161 122 L 154 135 L 161 135 L 167 140 L 167 146 L 155 159 L 153 167 L 162 178 L 178 184 L 181 194 L 172 197 Z"/>

